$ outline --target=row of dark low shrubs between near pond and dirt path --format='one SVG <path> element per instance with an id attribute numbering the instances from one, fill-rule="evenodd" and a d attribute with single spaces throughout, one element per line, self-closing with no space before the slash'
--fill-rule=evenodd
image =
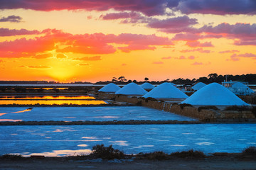
<path id="1" fill-rule="evenodd" d="M 206 159 L 213 157 L 229 157 L 234 156 L 238 159 L 246 157 L 247 159 L 256 159 L 256 147 L 250 146 L 246 147 L 242 150 L 242 153 L 238 154 L 228 154 L 228 153 L 213 153 L 210 156 L 204 154 L 201 151 L 194 151 L 190 149 L 188 151 L 182 152 L 173 152 L 171 154 L 166 154 L 161 151 L 150 152 L 150 153 L 139 153 L 139 154 L 124 154 L 124 152 L 119 149 L 114 149 L 112 145 L 109 147 L 105 147 L 104 145 L 95 145 L 92 147 L 92 153 L 89 155 L 78 155 L 78 156 L 69 156 L 65 157 L 67 159 L 104 159 L 104 160 L 112 160 L 112 159 L 148 159 L 148 160 L 169 160 L 169 159 Z M 34 156 L 31 158 L 40 158 L 43 159 L 43 156 Z M 20 154 L 4 154 L 0 156 L 0 159 L 9 159 L 9 160 L 17 160 L 17 159 L 29 159 L 28 157 L 23 157 Z"/>

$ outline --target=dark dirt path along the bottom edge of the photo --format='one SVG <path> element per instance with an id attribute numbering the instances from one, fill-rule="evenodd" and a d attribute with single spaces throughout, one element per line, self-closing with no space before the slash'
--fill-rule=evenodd
<path id="1" fill-rule="evenodd" d="M 0 160 L 0 169 L 256 169 L 256 160 L 171 159 L 168 161 L 133 160 L 122 162 L 95 162 L 67 159 Z"/>

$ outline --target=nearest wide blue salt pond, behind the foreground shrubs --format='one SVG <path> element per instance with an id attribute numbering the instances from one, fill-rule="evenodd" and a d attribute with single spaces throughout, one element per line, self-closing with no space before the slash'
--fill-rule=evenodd
<path id="1" fill-rule="evenodd" d="M 88 154 L 97 144 L 126 154 L 241 152 L 256 146 L 255 134 L 256 124 L 0 126 L 0 154 Z"/>

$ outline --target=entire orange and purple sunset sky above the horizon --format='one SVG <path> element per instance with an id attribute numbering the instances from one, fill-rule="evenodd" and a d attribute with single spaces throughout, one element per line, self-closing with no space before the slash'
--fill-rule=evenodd
<path id="1" fill-rule="evenodd" d="M 0 80 L 256 73 L 255 0 L 0 0 Z"/>

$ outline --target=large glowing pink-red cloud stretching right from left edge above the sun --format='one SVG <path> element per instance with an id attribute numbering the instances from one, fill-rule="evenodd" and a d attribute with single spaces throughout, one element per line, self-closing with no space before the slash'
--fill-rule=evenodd
<path id="1" fill-rule="evenodd" d="M 37 32 L 38 33 L 38 32 Z M 113 45 L 114 44 L 114 45 Z M 73 35 L 61 30 L 43 30 L 41 36 L 0 42 L 0 57 L 36 56 L 55 50 L 59 53 L 112 54 L 117 50 L 154 50 L 156 46 L 173 45 L 169 38 L 156 35 L 123 33 L 119 35 L 103 33 Z M 65 46 L 65 47 L 63 47 Z M 22 54 L 21 54 L 22 53 Z"/>

